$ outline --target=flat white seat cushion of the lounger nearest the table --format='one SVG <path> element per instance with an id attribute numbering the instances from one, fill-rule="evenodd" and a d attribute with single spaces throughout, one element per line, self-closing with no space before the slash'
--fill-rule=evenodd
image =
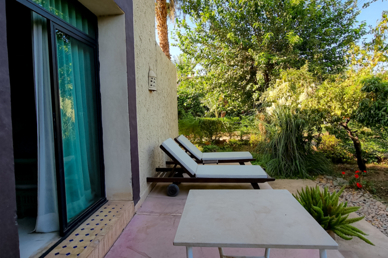
<path id="1" fill-rule="evenodd" d="M 197 178 L 267 178 L 260 166 L 201 165 L 196 169 Z"/>

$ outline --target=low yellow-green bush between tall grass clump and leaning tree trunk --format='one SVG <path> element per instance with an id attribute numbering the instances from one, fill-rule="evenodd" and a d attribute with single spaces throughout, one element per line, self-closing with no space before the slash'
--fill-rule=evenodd
<path id="1" fill-rule="evenodd" d="M 335 135 L 323 135 L 318 150 L 335 163 L 349 162 L 354 159 L 353 154 L 344 147 L 342 141 L 337 139 Z"/>

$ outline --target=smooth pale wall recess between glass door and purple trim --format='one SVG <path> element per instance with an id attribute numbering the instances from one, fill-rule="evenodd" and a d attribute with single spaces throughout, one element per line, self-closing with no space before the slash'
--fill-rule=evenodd
<path id="1" fill-rule="evenodd" d="M 125 15 L 98 17 L 100 89 L 108 200 L 132 200 Z"/>

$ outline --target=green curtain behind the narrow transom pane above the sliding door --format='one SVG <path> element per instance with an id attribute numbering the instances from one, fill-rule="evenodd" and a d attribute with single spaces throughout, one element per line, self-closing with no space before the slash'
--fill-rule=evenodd
<path id="1" fill-rule="evenodd" d="M 92 38 L 96 37 L 95 26 L 87 15 L 69 0 L 32 0 Z"/>

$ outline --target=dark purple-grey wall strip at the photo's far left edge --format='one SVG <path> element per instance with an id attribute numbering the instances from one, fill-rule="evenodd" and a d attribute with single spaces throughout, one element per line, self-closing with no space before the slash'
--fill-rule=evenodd
<path id="1" fill-rule="evenodd" d="M 19 257 L 5 0 L 0 0 L 0 258 Z"/>

